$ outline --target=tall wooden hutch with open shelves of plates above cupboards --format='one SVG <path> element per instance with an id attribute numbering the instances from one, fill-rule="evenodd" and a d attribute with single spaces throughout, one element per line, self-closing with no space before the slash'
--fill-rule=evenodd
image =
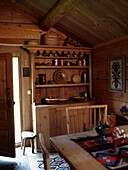
<path id="1" fill-rule="evenodd" d="M 67 133 L 65 108 L 95 103 L 92 100 L 91 48 L 38 45 L 27 46 L 27 49 L 31 55 L 33 128 L 37 135 L 37 149 L 38 134 L 43 132 L 46 147 L 50 151 L 49 138 Z M 83 59 L 86 59 L 84 65 Z M 60 74 L 60 79 L 56 77 L 56 72 L 64 73 L 64 81 L 61 81 Z M 83 81 L 83 72 L 87 73 L 86 82 Z M 40 83 L 40 74 L 46 76 L 45 84 Z M 73 80 L 74 75 L 78 80 Z M 71 100 L 74 96 L 81 96 L 83 92 L 88 94 L 88 100 L 80 103 Z M 68 101 L 48 105 L 44 102 L 46 97 Z"/>

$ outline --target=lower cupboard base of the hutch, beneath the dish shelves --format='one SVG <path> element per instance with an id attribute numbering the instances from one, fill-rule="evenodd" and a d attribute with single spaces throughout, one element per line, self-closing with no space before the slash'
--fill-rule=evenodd
<path id="1" fill-rule="evenodd" d="M 95 101 L 88 101 L 86 103 L 72 103 L 72 106 L 93 104 L 95 104 Z M 37 135 L 37 150 L 40 149 L 38 140 L 38 135 L 40 132 L 44 135 L 45 144 L 49 151 L 53 150 L 49 141 L 50 137 L 67 134 L 66 107 L 69 106 L 71 106 L 71 104 L 34 106 L 33 123 L 34 132 Z"/>

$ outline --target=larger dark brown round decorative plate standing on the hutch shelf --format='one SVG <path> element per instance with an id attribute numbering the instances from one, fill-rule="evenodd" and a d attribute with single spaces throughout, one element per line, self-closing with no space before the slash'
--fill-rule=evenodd
<path id="1" fill-rule="evenodd" d="M 53 79 L 57 84 L 65 84 L 67 81 L 67 74 L 64 70 L 56 70 L 53 74 Z"/>

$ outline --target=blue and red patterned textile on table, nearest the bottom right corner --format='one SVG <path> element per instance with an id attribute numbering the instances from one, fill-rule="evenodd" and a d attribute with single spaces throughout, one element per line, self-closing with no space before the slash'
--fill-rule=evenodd
<path id="1" fill-rule="evenodd" d="M 108 149 L 91 154 L 109 169 L 128 166 L 128 147 L 119 147 L 116 152 Z"/>

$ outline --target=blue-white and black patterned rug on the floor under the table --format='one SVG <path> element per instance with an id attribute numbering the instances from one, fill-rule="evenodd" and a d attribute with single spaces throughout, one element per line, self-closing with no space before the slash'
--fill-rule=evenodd
<path id="1" fill-rule="evenodd" d="M 44 164 L 42 160 L 38 160 L 37 164 L 40 169 L 44 169 Z M 54 170 L 70 170 L 68 163 L 59 156 L 50 158 L 50 167 Z"/>

